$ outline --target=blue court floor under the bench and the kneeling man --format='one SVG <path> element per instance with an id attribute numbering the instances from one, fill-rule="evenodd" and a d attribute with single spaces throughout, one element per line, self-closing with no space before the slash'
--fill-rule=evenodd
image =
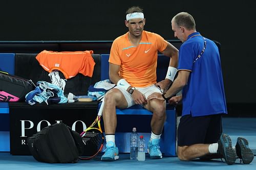
<path id="1" fill-rule="evenodd" d="M 256 118 L 223 118 L 223 133 L 228 134 L 233 145 L 237 137 L 245 137 L 249 141 L 249 147 L 254 155 L 256 151 Z M 37 162 L 32 156 L 13 156 L 9 152 L 0 153 L 0 169 L 256 169 L 254 157 L 250 164 L 240 163 L 237 159 L 233 165 L 223 163 L 221 159 L 210 161 L 180 161 L 178 157 L 163 157 L 162 159 L 150 159 L 146 155 L 145 161 L 130 160 L 129 154 L 120 154 L 119 160 L 114 162 L 102 162 L 100 156 L 88 161 L 79 160 L 78 163 L 50 164 Z"/>

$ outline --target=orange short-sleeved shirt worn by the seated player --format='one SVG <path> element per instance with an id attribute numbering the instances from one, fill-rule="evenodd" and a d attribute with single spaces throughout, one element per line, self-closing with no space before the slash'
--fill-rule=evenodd
<path id="1" fill-rule="evenodd" d="M 133 87 L 147 87 L 156 83 L 157 55 L 167 46 L 160 35 L 143 31 L 138 46 L 131 44 L 128 33 L 113 41 L 109 62 L 120 65 L 119 76 Z"/>

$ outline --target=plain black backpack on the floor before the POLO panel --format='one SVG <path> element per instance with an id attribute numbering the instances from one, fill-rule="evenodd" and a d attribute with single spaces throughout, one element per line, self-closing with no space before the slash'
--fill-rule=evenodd
<path id="1" fill-rule="evenodd" d="M 76 163 L 84 150 L 79 133 L 63 123 L 45 127 L 27 141 L 30 153 L 40 162 Z"/>

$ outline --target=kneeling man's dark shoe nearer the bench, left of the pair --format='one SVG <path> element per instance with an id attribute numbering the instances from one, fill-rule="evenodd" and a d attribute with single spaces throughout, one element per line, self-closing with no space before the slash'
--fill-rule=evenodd
<path id="1" fill-rule="evenodd" d="M 220 140 L 227 145 L 223 146 L 223 143 Z M 219 144 L 218 150 L 220 154 L 223 156 L 223 158 L 225 159 L 226 163 L 228 165 L 234 164 L 234 162 L 236 161 L 236 153 L 232 148 L 232 142 L 230 137 L 227 134 L 222 134 L 218 141 L 218 144 Z"/>

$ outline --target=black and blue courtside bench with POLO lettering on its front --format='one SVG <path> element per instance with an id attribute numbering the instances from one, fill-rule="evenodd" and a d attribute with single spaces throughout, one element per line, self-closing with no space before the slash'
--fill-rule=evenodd
<path id="1" fill-rule="evenodd" d="M 48 72 L 41 68 L 35 59 L 37 54 L 0 54 L 0 57 L 8 57 L 8 64 L 0 63 L 2 70 L 10 74 L 31 79 L 34 83 L 40 80 L 51 82 Z M 75 95 L 87 94 L 91 84 L 100 80 L 109 79 L 109 55 L 93 55 L 95 67 L 93 77 L 84 77 L 78 74 L 66 83 L 65 91 Z M 11 59 L 11 61 L 9 61 Z M 158 80 L 163 80 L 166 75 L 169 58 L 159 55 L 157 75 Z M 2 65 L 6 65 L 6 69 Z M 10 70 L 12 69 L 12 71 Z M 60 76 L 62 77 L 60 72 Z M 66 94 L 66 93 L 65 93 Z M 81 132 L 84 126 L 89 126 L 97 115 L 98 102 L 77 102 L 66 104 L 45 103 L 30 106 L 25 102 L 0 103 L 1 125 L 0 151 L 10 151 L 12 155 L 30 155 L 27 148 L 27 137 L 40 129 L 57 122 L 63 122 Z M 175 107 L 167 105 L 167 120 L 161 136 L 160 147 L 164 155 L 176 155 L 176 112 Z M 130 152 L 130 134 L 136 127 L 140 135 L 148 141 L 151 134 L 150 121 L 152 113 L 133 106 L 129 109 L 117 109 L 118 126 L 116 144 L 120 153 Z M 103 123 L 103 122 L 102 122 Z M 10 128 L 9 128 L 10 125 Z M 103 125 L 102 125 L 103 127 Z M 3 140 L 2 140 L 3 139 Z M 3 148 L 4 147 L 4 148 Z"/>

